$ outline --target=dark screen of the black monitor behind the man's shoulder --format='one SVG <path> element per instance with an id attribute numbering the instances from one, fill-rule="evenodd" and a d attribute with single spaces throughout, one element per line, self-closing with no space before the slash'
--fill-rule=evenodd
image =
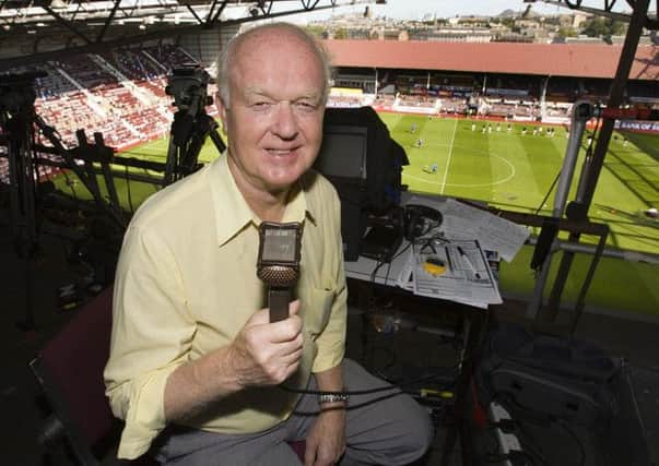
<path id="1" fill-rule="evenodd" d="M 326 124 L 314 167 L 329 178 L 366 179 L 366 127 Z"/>

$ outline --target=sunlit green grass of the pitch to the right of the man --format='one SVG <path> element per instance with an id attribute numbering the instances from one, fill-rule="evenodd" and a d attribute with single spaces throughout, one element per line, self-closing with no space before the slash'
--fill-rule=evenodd
<path id="1" fill-rule="evenodd" d="M 522 124 L 513 124 L 507 133 L 483 134 L 483 121 L 439 119 L 397 113 L 381 113 L 392 136 L 405 147 L 410 166 L 403 170 L 403 182 L 412 191 L 486 201 L 502 208 L 551 215 L 554 193 L 542 202 L 558 175 L 567 138 L 556 128 L 554 138 L 521 135 Z M 417 130 L 410 132 L 411 124 Z M 532 127 L 527 126 L 530 130 Z M 548 127 L 545 127 L 548 128 Z M 544 134 L 544 132 L 542 133 Z M 659 136 L 643 135 L 648 146 L 658 146 Z M 416 139 L 423 146 L 414 146 Z M 568 200 L 575 199 L 585 151 L 581 151 Z M 437 172 L 424 170 L 437 164 Z M 623 139 L 612 139 L 604 160 L 589 217 L 609 224 L 609 244 L 621 249 L 658 253 L 659 223 L 643 212 L 659 204 L 659 164 L 646 152 Z"/>

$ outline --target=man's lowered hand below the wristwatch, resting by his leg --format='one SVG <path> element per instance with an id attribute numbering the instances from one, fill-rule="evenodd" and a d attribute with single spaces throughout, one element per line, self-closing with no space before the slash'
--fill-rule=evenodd
<path id="1" fill-rule="evenodd" d="M 306 439 L 305 466 L 329 466 L 339 463 L 345 451 L 345 409 L 343 402 L 325 405 Z"/>

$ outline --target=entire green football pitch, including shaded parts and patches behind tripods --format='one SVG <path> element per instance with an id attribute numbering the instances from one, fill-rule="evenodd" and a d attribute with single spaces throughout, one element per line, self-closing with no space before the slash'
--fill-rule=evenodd
<path id="1" fill-rule="evenodd" d="M 505 210 L 551 215 L 555 191 L 550 193 L 550 189 L 562 168 L 568 141 L 562 127 L 545 124 L 542 132 L 533 134 L 533 129 L 540 127 L 511 123 L 508 131 L 505 122 L 497 126 L 478 119 L 379 115 L 391 136 L 408 154 L 410 165 L 403 169 L 402 181 L 410 191 L 485 201 Z M 525 128 L 527 131 L 522 133 Z M 553 136 L 548 135 L 549 128 L 554 129 Z M 659 147 L 659 135 L 614 132 L 589 212 L 591 222 L 609 225 L 610 247 L 659 253 L 659 222 L 644 215 L 646 208 L 659 205 L 656 147 Z M 163 139 L 121 155 L 164 162 L 166 154 L 167 141 Z M 585 146 L 576 165 L 568 200 L 575 198 L 584 155 Z M 200 153 L 200 162 L 216 156 L 217 151 L 209 139 Z M 132 208 L 156 189 L 139 182 L 126 184 L 117 179 L 119 198 L 127 206 L 130 199 Z M 595 241 L 595 238 L 582 239 Z M 523 247 L 513 263 L 502 264 L 504 295 L 530 295 L 533 288 L 533 272 L 529 268 L 531 254 L 532 248 Z M 576 300 L 590 260 L 588 254 L 576 255 L 562 302 Z M 659 319 L 657 265 L 603 258 L 586 302 L 593 309 L 632 311 Z"/>

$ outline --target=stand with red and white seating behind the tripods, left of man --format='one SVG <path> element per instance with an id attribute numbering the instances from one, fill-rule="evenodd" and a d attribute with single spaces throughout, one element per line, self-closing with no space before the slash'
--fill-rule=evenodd
<path id="1" fill-rule="evenodd" d="M 75 132 L 82 129 L 90 143 L 99 132 L 106 145 L 122 151 L 169 130 L 174 108 L 165 94 L 166 73 L 191 62 L 189 53 L 170 45 L 89 53 L 8 71 L 47 73 L 35 80 L 35 111 L 55 127 L 64 147 L 78 145 Z M 215 115 L 217 109 L 209 106 L 208 112 Z M 40 134 L 37 142 L 50 145 Z M 7 180 L 8 171 L 7 159 L 1 158 L 0 180 Z M 39 177 L 51 172 L 51 167 L 39 167 Z"/>

